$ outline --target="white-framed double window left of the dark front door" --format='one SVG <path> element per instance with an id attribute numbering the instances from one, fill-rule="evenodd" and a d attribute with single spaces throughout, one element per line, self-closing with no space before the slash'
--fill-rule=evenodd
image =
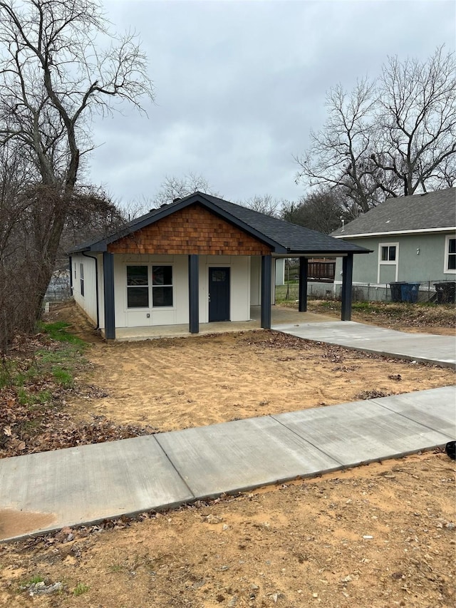
<path id="1" fill-rule="evenodd" d="M 151 297 L 152 308 L 173 305 L 172 266 L 128 265 L 128 308 L 150 308 Z"/>

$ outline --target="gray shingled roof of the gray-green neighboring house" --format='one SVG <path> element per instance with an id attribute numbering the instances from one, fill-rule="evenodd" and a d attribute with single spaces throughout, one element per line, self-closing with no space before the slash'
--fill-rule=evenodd
<path id="1" fill-rule="evenodd" d="M 331 232 L 341 238 L 388 235 L 408 231 L 456 227 L 456 188 L 412 196 L 389 198 L 378 207 Z"/>

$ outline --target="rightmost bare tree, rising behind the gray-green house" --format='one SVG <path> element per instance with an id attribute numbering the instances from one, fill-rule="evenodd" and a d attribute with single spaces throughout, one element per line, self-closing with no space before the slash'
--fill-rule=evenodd
<path id="1" fill-rule="evenodd" d="M 413 195 L 447 185 L 456 177 L 456 61 L 443 47 L 424 63 L 398 57 L 383 66 L 371 158 Z"/>

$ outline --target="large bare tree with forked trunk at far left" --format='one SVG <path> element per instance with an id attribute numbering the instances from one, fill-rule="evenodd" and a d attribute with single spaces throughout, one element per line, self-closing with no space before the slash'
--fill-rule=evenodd
<path id="1" fill-rule="evenodd" d="M 108 32 L 96 0 L 0 0 L 0 145 L 20 145 L 28 184 L 39 282 L 38 316 L 83 155 L 93 149 L 90 119 L 127 101 L 152 99 L 135 34 Z M 100 38 L 110 41 L 100 48 Z M 43 225 L 41 209 L 46 209 Z"/>

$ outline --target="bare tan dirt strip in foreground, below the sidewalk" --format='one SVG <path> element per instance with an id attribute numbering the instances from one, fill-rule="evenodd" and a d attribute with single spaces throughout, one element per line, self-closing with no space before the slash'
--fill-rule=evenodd
<path id="1" fill-rule="evenodd" d="M 453 607 L 454 482 L 426 453 L 0 545 L 0 605 Z"/>

